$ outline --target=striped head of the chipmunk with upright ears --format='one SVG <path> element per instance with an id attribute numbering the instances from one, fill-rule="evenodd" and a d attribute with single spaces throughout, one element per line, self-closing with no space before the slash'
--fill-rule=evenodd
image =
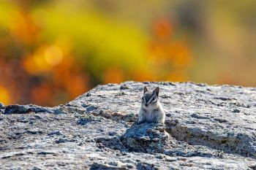
<path id="1" fill-rule="evenodd" d="M 155 88 L 153 91 L 148 91 L 146 86 L 144 86 L 144 93 L 142 97 L 141 104 L 143 107 L 149 108 L 157 105 L 159 101 L 159 87 Z"/>

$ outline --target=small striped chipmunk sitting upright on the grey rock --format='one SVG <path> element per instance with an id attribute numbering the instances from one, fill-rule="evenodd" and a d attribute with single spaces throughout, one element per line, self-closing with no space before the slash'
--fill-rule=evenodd
<path id="1" fill-rule="evenodd" d="M 152 92 L 144 86 L 138 123 L 165 123 L 165 112 L 159 101 L 159 87 Z"/>

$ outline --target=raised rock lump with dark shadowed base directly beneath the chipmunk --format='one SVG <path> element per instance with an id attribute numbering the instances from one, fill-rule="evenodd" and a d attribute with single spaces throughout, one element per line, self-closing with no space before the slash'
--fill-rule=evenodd
<path id="1" fill-rule="evenodd" d="M 166 127 L 157 123 L 133 124 L 121 137 L 97 138 L 97 147 L 103 150 L 121 152 L 162 153 L 170 156 L 223 158 L 222 152 L 209 150 L 205 146 L 192 146 L 177 141 L 165 131 Z"/>

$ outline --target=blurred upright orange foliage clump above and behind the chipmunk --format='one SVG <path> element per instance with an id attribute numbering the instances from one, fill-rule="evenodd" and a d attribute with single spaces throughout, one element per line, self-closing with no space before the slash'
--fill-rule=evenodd
<path id="1" fill-rule="evenodd" d="M 173 39 L 173 26 L 167 19 L 154 23 L 153 35 L 149 57 L 157 77 L 155 80 L 187 80 L 186 69 L 192 64 L 187 41 Z"/>

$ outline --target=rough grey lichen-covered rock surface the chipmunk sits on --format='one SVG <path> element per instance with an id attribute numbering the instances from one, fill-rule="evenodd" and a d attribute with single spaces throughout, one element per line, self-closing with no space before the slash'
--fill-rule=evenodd
<path id="1" fill-rule="evenodd" d="M 159 86 L 165 125 L 136 124 L 143 85 Z M 256 88 L 124 82 L 0 104 L 0 169 L 256 169 Z"/>

